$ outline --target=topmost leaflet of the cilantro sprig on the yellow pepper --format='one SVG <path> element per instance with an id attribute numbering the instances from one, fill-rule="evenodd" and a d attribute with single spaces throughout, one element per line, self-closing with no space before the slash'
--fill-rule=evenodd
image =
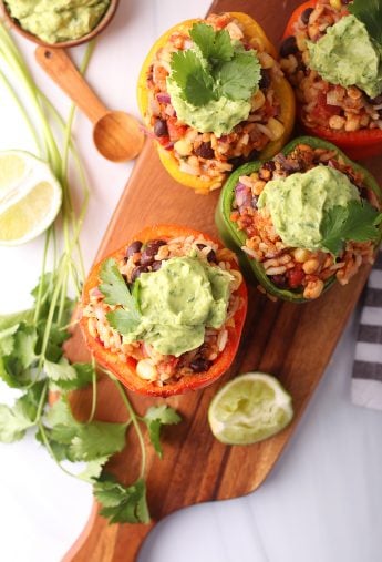
<path id="1" fill-rule="evenodd" d="M 207 23 L 194 23 L 189 35 L 210 63 L 229 61 L 234 55 L 234 47 L 227 30 L 215 31 Z"/>

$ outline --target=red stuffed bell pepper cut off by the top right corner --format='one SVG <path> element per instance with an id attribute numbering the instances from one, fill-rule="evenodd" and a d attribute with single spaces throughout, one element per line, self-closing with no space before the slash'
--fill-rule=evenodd
<path id="1" fill-rule="evenodd" d="M 355 160 L 382 154 L 381 0 L 302 3 L 280 55 L 309 134 Z"/>

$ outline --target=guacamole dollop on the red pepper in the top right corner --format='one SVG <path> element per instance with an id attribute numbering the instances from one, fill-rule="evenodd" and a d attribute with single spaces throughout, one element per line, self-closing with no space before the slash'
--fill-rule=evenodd
<path id="1" fill-rule="evenodd" d="M 354 16 L 345 16 L 307 45 L 309 67 L 331 84 L 357 85 L 370 98 L 382 92 L 381 50 Z"/>

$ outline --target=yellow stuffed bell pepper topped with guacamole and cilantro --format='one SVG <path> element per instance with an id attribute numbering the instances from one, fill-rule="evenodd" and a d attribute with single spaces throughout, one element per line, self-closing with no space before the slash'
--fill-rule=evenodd
<path id="1" fill-rule="evenodd" d="M 295 99 L 276 57 L 240 12 L 185 21 L 156 41 L 140 74 L 138 105 L 176 181 L 208 193 L 239 163 L 282 147 Z"/>

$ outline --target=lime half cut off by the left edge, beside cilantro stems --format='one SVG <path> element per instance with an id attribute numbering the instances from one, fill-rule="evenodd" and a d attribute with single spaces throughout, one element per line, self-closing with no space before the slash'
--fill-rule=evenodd
<path id="1" fill-rule="evenodd" d="M 35 238 L 61 206 L 60 183 L 49 165 L 28 152 L 0 152 L 0 244 Z"/>

